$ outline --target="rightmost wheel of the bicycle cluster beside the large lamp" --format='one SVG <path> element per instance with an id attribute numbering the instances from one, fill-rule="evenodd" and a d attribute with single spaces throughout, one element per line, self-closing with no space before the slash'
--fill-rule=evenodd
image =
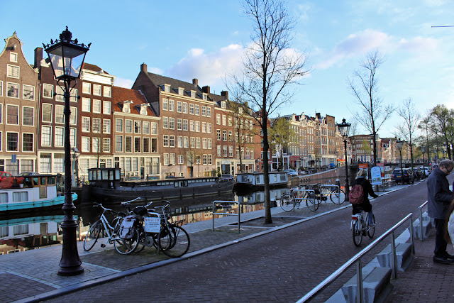
<path id="1" fill-rule="evenodd" d="M 158 243 L 162 249 L 162 253 L 170 258 L 179 258 L 189 250 L 191 241 L 189 234 L 181 226 L 171 225 L 168 232 L 160 233 Z"/>

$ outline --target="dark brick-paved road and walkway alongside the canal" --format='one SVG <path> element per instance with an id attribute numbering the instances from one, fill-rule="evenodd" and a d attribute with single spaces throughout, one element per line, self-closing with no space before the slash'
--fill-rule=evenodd
<path id="1" fill-rule="evenodd" d="M 421 196 L 421 193 L 414 193 L 415 197 L 418 196 L 418 194 Z M 372 202 L 372 204 L 374 204 L 376 216 L 377 214 L 380 214 L 380 209 L 385 209 L 387 207 L 394 207 L 394 209 L 396 209 L 396 211 L 393 211 L 395 214 L 392 215 L 395 217 L 392 218 L 394 221 L 399 221 L 399 219 L 402 219 L 403 216 L 408 214 L 408 212 L 403 211 L 404 215 L 402 215 L 402 211 L 399 211 L 398 207 L 396 207 L 402 199 L 395 200 L 396 201 L 393 201 L 392 203 L 387 203 L 392 205 L 374 204 Z M 414 203 L 416 206 L 419 206 L 419 204 L 421 203 Z M 296 219 L 301 219 L 314 216 L 314 214 L 320 214 L 323 211 L 328 211 L 336 207 L 338 206 L 329 202 L 323 203 L 317 213 L 313 213 L 306 208 L 301 208 L 294 213 L 275 214 L 275 225 L 286 224 L 288 222 L 287 216 L 295 216 Z M 153 262 L 157 262 L 156 264 L 161 263 L 159 261 L 162 259 L 155 260 L 154 258 L 163 258 L 163 256 L 157 256 L 150 248 L 145 249 L 142 253 L 143 255 L 138 253 L 137 255 L 132 256 L 117 255 L 112 250 L 104 250 L 99 253 L 89 254 L 81 253 L 86 272 L 84 272 L 83 275 L 79 275 L 79 277 L 60 277 L 55 274 L 55 280 L 48 282 L 40 280 L 39 277 L 33 277 L 33 275 L 15 275 L 14 277 L 8 277 L 7 275 L 11 275 L 11 273 L 4 271 L 0 272 L 0 285 L 3 285 L 5 280 L 14 281 L 14 278 L 18 279 L 18 277 L 27 279 L 21 281 L 22 285 L 27 285 L 26 290 L 21 291 L 16 297 L 7 297 L 6 301 L 14 299 L 29 301 L 30 299 L 33 299 L 33 297 L 30 297 L 33 294 L 43 294 L 52 289 L 70 290 L 74 285 L 84 285 L 84 290 L 82 291 L 66 294 L 63 297 L 51 299 L 51 301 L 96 302 L 105 299 L 116 301 L 119 298 L 123 298 L 122 294 L 131 294 L 131 290 L 133 290 L 136 298 L 141 298 L 141 300 L 149 299 L 150 301 L 155 302 L 255 302 L 258 300 L 294 302 L 303 294 L 309 292 L 309 290 L 321 282 L 324 277 L 330 275 L 331 272 L 345 263 L 351 255 L 354 255 L 359 251 L 359 249 L 354 248 L 351 243 L 351 235 L 348 228 L 347 231 L 343 230 L 341 233 L 336 233 L 336 231 L 339 230 L 339 226 L 348 226 L 349 213 L 349 209 L 342 209 L 336 211 L 336 214 L 328 214 L 318 219 L 306 221 L 305 224 L 297 224 L 285 228 L 282 231 L 275 231 L 266 236 L 252 238 L 250 241 L 228 246 L 215 252 L 207 250 L 206 253 L 198 257 L 181 260 L 178 263 L 154 268 L 153 270 L 142 272 L 138 275 L 123 277 L 121 280 L 106 282 L 95 287 L 87 288 L 89 285 L 92 285 L 93 282 L 99 281 L 96 280 L 96 277 L 99 277 L 99 275 L 97 275 L 99 274 L 99 271 L 107 271 L 104 276 L 121 275 L 121 271 L 123 270 L 138 268 L 140 265 L 147 266 L 146 264 Z M 279 216 L 285 218 L 279 219 Z M 316 223 L 317 220 L 324 221 L 325 225 L 323 226 L 323 231 L 320 231 L 319 225 Z M 379 224 L 379 226 L 377 226 L 376 235 L 385 231 L 390 226 L 392 226 L 392 223 L 383 223 L 382 226 Z M 243 224 L 242 233 L 240 234 L 237 233 L 236 226 L 218 226 L 216 227 L 216 232 L 205 230 L 192 233 L 191 250 L 200 251 L 204 248 L 216 247 L 227 241 L 236 241 L 238 238 L 253 236 L 264 229 L 266 231 L 270 228 L 260 228 L 260 224 L 254 224 L 253 221 L 251 221 L 250 224 Z M 203 239 L 203 241 L 197 241 L 196 239 L 198 237 L 199 239 Z M 326 241 L 323 241 L 326 239 L 332 240 L 333 243 L 326 243 Z M 334 241 L 334 239 L 337 239 L 338 241 Z M 368 241 L 369 240 L 366 239 L 365 244 L 362 247 L 365 247 L 365 245 L 370 243 Z M 429 242 L 431 242 L 431 246 L 433 246 L 433 241 L 430 240 L 424 241 L 422 244 L 429 246 Z M 377 248 L 377 250 L 378 249 L 381 248 Z M 422 252 L 423 250 L 421 250 L 421 253 Z M 61 250 L 59 250 L 58 253 L 61 254 Z M 415 270 L 415 268 L 419 268 L 416 264 L 419 264 L 418 261 L 423 260 L 424 258 L 423 255 L 420 255 L 421 253 L 419 252 L 419 243 L 416 241 L 416 261 L 411 267 L 411 271 Z M 99 256 L 102 256 L 102 258 Z M 426 253 L 426 263 L 421 263 L 420 268 L 429 271 L 427 272 L 428 281 L 434 281 L 430 279 L 433 275 L 437 274 L 438 266 L 431 263 L 430 251 L 428 256 Z M 54 260 L 60 259 L 60 257 L 55 258 L 57 259 Z M 369 260 L 370 259 L 372 259 L 372 256 L 370 256 Z M 430 262 L 427 261 L 428 259 L 430 259 Z M 100 262 L 99 260 L 103 261 Z M 128 260 L 127 263 L 125 260 Z M 326 266 L 326 262 L 323 260 L 328 260 L 329 266 Z M 16 260 L 14 263 L 16 267 L 18 267 L 18 263 L 23 263 L 24 266 L 27 265 L 23 260 Z M 3 265 L 5 265 L 5 263 L 2 264 L 2 259 L 0 258 L 0 268 L 5 270 Z M 28 266 L 30 265 L 28 264 Z M 55 264 L 54 267 L 55 268 L 52 268 L 51 270 L 55 273 L 57 271 L 57 264 Z M 431 270 L 427 270 L 428 267 Z M 433 270 L 433 268 L 435 268 L 435 270 Z M 452 277 L 452 274 L 450 275 L 449 266 L 444 266 L 444 268 L 443 277 Z M 28 268 L 28 270 L 30 271 L 30 268 Z M 333 287 L 329 288 L 326 294 L 321 295 L 316 301 L 323 301 L 331 296 L 331 294 L 336 292 L 336 290 L 343 285 L 343 282 L 348 280 L 353 274 L 353 270 L 347 272 L 345 277 L 336 282 Z M 422 284 L 421 279 L 419 279 L 420 275 L 421 274 L 419 273 L 411 275 L 411 272 L 406 272 L 402 274 L 402 278 L 399 276 L 399 280 L 393 281 L 395 285 L 394 302 L 404 302 L 402 298 L 408 297 L 406 292 L 404 292 L 404 290 L 409 289 L 409 287 L 406 287 L 407 285 L 415 283 L 415 289 L 417 289 L 417 283 L 420 283 L 419 285 Z M 240 277 L 240 280 L 237 279 L 238 277 Z M 438 277 L 433 278 L 438 280 Z M 58 282 L 58 280 L 60 280 L 60 282 Z M 63 282 L 62 280 L 67 281 Z M 447 278 L 446 281 L 448 282 L 449 279 Z M 424 285 L 426 284 L 427 283 L 425 282 Z M 427 296 L 432 297 L 435 290 L 438 290 L 441 293 L 438 295 L 443 297 L 443 294 L 447 292 L 446 290 L 450 290 L 450 287 L 443 285 L 443 287 L 431 288 L 431 292 L 428 293 Z M 445 290 L 445 292 L 441 290 Z M 411 294 L 415 293 L 416 292 L 411 292 Z M 17 294 L 17 292 L 14 292 L 13 294 Z M 150 294 L 153 294 L 153 297 L 150 297 Z M 275 299 L 273 299 L 273 297 L 275 297 Z M 443 298 L 448 297 L 445 296 Z M 414 300 L 413 302 L 424 301 Z"/>

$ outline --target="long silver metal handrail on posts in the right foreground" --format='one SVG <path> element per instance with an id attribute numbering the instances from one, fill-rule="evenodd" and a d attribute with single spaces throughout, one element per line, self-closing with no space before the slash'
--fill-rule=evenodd
<path id="1" fill-rule="evenodd" d="M 399 221 L 396 225 L 392 226 L 392 228 L 388 229 L 385 233 L 382 234 L 382 236 L 378 237 L 377 240 L 373 241 L 370 243 L 368 246 L 366 246 L 363 250 L 361 250 L 359 253 L 353 256 L 350 260 L 348 260 L 344 265 L 342 265 L 340 268 L 338 268 L 335 272 L 333 272 L 329 277 L 327 277 L 325 280 L 323 280 L 319 285 L 314 287 L 310 292 L 308 292 L 304 297 L 299 299 L 297 303 L 301 302 L 308 302 L 311 299 L 314 299 L 317 294 L 322 292 L 323 290 L 326 289 L 329 285 L 331 285 L 334 280 L 336 280 L 340 275 L 343 274 L 343 272 L 347 271 L 350 266 L 358 262 L 358 267 L 357 267 L 357 297 L 356 301 L 357 302 L 364 302 L 364 293 L 362 290 L 362 264 L 361 264 L 361 258 L 363 255 L 366 253 L 369 253 L 372 248 L 377 246 L 378 243 L 380 243 L 384 238 L 386 238 L 389 235 L 392 235 L 392 246 L 391 246 L 391 251 L 392 251 L 392 259 L 391 259 L 391 265 L 392 265 L 392 275 L 395 278 L 397 278 L 397 256 L 396 256 L 396 242 L 394 238 L 394 230 L 399 228 L 402 224 L 404 224 L 405 221 L 410 219 L 410 230 L 412 228 L 412 220 L 411 220 L 411 215 L 412 213 L 406 215 L 404 219 Z M 410 233 L 410 243 L 411 246 L 413 247 L 413 253 L 414 253 L 414 238 L 413 238 L 413 233 Z"/>

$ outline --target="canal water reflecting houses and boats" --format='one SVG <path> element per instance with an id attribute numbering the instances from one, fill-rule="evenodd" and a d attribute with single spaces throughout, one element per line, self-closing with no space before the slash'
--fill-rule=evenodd
<path id="1" fill-rule="evenodd" d="M 272 189 L 271 199 L 279 199 L 287 191 L 287 188 Z M 172 216 L 174 221 L 184 219 L 184 224 L 196 221 L 212 219 L 214 201 L 236 201 L 240 202 L 241 212 L 250 212 L 263 209 L 265 200 L 264 192 L 245 192 L 241 194 L 229 193 L 210 197 L 197 197 L 190 199 L 172 200 Z M 143 205 L 144 203 L 133 203 L 132 206 Z M 153 206 L 160 206 L 162 203 L 153 203 Z M 107 208 L 116 211 L 125 211 L 120 203 L 105 204 Z M 238 213 L 238 205 L 233 206 L 228 212 Z M 74 218 L 77 221 L 77 238 L 83 241 L 84 235 L 89 230 L 90 224 L 99 218 L 102 209 L 92 204 L 78 204 Z M 111 219 L 111 214 L 106 214 Z M 60 223 L 63 219 L 61 209 L 52 211 L 35 210 L 23 215 L 2 215 L 0 216 L 0 255 L 7 253 L 18 253 L 25 250 L 41 248 L 45 246 L 61 245 L 62 228 Z M 1 258 L 1 257 L 0 257 Z"/>

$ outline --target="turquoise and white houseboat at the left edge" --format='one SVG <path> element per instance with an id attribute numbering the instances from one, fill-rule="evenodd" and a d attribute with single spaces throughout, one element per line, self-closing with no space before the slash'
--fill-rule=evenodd
<path id="1" fill-rule="evenodd" d="M 72 194 L 72 200 L 77 194 Z M 9 177 L 0 182 L 0 214 L 6 211 L 31 211 L 65 203 L 57 191 L 56 175 Z"/>

